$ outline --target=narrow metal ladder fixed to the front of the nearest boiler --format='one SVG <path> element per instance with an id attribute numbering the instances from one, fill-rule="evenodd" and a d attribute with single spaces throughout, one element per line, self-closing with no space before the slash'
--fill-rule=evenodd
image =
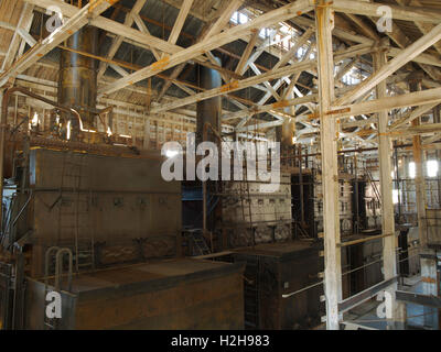
<path id="1" fill-rule="evenodd" d="M 68 156 L 71 161 L 66 161 Z M 84 168 L 87 166 L 84 163 L 84 154 L 66 153 L 63 158 L 60 228 L 61 232 L 68 233 L 69 238 L 72 237 L 73 239 L 76 272 L 82 268 L 95 268 L 95 241 L 89 221 L 92 193 L 89 191 L 87 196 L 82 197 L 82 182 L 85 177 Z M 73 198 L 75 200 L 73 202 L 75 208 L 73 207 L 74 205 L 64 204 L 63 191 L 66 189 L 74 195 Z M 71 210 L 64 211 L 67 206 L 69 206 Z"/>

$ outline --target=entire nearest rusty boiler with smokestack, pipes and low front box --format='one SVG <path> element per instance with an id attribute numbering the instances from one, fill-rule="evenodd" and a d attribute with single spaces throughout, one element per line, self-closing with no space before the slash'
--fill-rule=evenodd
<path id="1" fill-rule="evenodd" d="M 96 109 L 97 63 L 75 53 L 96 52 L 96 29 L 67 45 L 57 101 L 3 97 L 0 328 L 241 329 L 244 265 L 183 257 L 181 183 L 112 133 L 112 107 Z M 11 123 L 13 94 L 50 106 L 50 128 Z"/>

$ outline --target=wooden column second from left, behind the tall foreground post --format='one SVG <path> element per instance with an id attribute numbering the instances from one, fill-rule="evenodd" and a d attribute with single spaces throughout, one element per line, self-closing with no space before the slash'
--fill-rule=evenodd
<path id="1" fill-rule="evenodd" d="M 386 44 L 386 43 L 385 43 Z M 374 56 L 374 68 L 379 70 L 387 64 L 387 45 L 381 45 Z M 377 99 L 387 96 L 386 80 L 381 81 L 377 88 Z M 384 110 L 378 113 L 378 158 L 379 158 L 379 182 L 381 189 L 381 230 L 383 233 L 395 233 L 395 216 L 394 216 L 394 196 L 391 179 L 391 140 L 387 135 L 388 111 Z M 389 235 L 383 240 L 383 267 L 385 280 L 397 276 L 397 238 Z M 386 311 L 391 312 L 391 319 L 397 322 L 392 328 L 402 329 L 406 320 L 406 306 L 396 301 L 397 284 L 388 287 L 386 292 L 390 295 L 390 300 L 386 300 Z"/>

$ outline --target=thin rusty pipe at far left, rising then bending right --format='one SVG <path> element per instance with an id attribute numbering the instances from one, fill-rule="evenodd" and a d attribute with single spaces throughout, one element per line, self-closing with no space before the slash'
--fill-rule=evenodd
<path id="1" fill-rule="evenodd" d="M 82 117 L 79 116 L 79 113 L 76 110 L 74 110 L 72 108 L 58 105 L 55 101 L 52 101 L 50 99 L 46 99 L 39 95 L 35 95 L 32 91 L 29 91 L 28 89 L 24 89 L 21 87 L 13 87 L 13 88 L 7 89 L 7 91 L 3 94 L 3 98 L 1 101 L 1 118 L 0 118 L 0 198 L 1 198 L 0 199 L 0 224 L 2 224 L 2 221 L 3 221 L 3 173 L 4 173 L 3 163 L 4 163 L 6 131 L 7 131 L 7 127 L 8 127 L 8 106 L 9 106 L 10 96 L 18 91 L 25 96 L 29 96 L 31 98 L 34 98 L 34 99 L 41 100 L 47 105 L 51 105 L 61 111 L 67 112 L 69 114 L 74 114 L 78 119 L 78 122 L 82 125 Z"/>

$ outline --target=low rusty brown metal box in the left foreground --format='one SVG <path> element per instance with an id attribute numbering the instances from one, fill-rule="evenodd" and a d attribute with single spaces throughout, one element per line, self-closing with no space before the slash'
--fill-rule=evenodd
<path id="1" fill-rule="evenodd" d="M 82 274 L 60 327 L 243 329 L 243 264 L 171 260 Z M 43 320 L 39 285 L 30 280 L 28 329 Z"/>

